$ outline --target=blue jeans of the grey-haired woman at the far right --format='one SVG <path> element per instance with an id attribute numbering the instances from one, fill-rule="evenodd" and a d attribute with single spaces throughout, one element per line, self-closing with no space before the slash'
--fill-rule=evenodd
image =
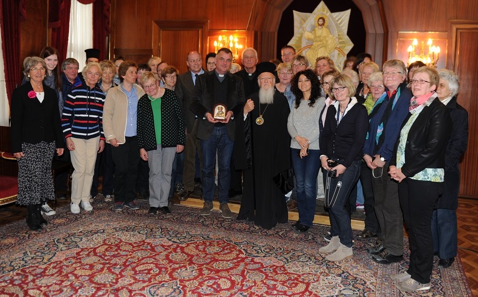
<path id="1" fill-rule="evenodd" d="M 433 249 L 440 259 L 450 259 L 458 252 L 458 228 L 456 209 L 433 209 L 431 215 L 431 234 Z"/>

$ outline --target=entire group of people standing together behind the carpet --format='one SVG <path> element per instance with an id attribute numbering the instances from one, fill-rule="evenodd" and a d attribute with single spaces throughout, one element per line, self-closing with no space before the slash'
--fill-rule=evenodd
<path id="1" fill-rule="evenodd" d="M 237 219 L 270 229 L 297 207 L 292 228 L 302 233 L 323 197 L 330 234 L 319 252 L 342 261 L 353 255 L 350 216 L 359 193 L 366 219 L 358 237 L 379 238 L 367 249 L 373 261 L 403 260 L 406 223 L 409 268 L 391 275 L 401 290 L 430 287 L 433 253 L 440 267 L 453 263 L 468 137 L 453 72 L 419 63 L 407 69 L 396 59 L 379 71 L 366 53 L 339 72 L 327 56 L 311 66 L 285 46 L 277 66 L 245 49 L 234 74 L 227 48 L 208 54 L 206 69 L 201 54 L 189 52 L 181 75 L 159 57 L 99 62 L 93 50 L 75 75 L 76 60 L 66 59 L 60 74 L 56 51 L 47 50 L 25 59 L 26 83 L 12 95 L 18 204 L 27 206 L 31 229 L 47 223 L 41 212 L 55 198 L 51 160 L 68 151 L 75 214 L 93 209 L 102 155 L 103 194 L 112 201 L 114 189 L 115 210 L 138 209 L 142 184 L 149 214 L 169 214 L 174 190 L 184 201 L 200 180 L 200 215 L 211 214 L 217 187 L 222 217 L 233 217 L 228 199 L 241 193 Z"/>

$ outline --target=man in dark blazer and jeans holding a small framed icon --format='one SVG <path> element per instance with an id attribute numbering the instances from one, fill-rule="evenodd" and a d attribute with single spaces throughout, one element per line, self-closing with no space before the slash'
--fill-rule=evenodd
<path id="1" fill-rule="evenodd" d="M 236 119 L 242 117 L 244 87 L 242 79 L 229 73 L 233 55 L 231 50 L 222 48 L 216 54 L 216 69 L 198 76 L 191 102 L 191 111 L 198 117 L 195 135 L 201 140 L 202 149 L 202 194 L 204 207 L 202 216 L 208 216 L 213 209 L 214 165 L 218 156 L 218 197 L 219 210 L 224 218 L 232 218 L 228 190 L 231 173 L 230 162 L 234 147 Z M 215 120 L 213 110 L 216 104 L 226 107 L 223 120 Z"/>

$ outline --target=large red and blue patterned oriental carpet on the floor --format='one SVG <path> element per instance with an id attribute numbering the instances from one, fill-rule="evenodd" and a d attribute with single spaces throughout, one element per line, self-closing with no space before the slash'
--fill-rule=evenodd
<path id="1" fill-rule="evenodd" d="M 57 209 L 40 232 L 25 221 L 0 229 L 0 296 L 400 296 L 391 273 L 406 262 L 379 265 L 357 240 L 354 257 L 325 260 L 318 248 L 328 227 L 295 234 L 172 207 L 169 216 L 115 213 L 95 202 L 91 214 Z M 409 252 L 405 250 L 408 261 Z M 428 296 L 469 296 L 460 259 L 438 269 Z M 407 294 L 420 295 L 420 294 Z"/>

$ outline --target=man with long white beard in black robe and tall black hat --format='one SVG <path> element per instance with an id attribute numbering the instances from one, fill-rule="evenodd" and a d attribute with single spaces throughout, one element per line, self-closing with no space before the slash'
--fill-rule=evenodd
<path id="1" fill-rule="evenodd" d="M 259 75 L 259 92 L 247 100 L 243 116 L 244 131 L 250 135 L 245 137 L 242 151 L 251 152 L 251 156 L 244 169 L 244 192 L 237 219 L 254 221 L 265 229 L 287 222 L 284 193 L 274 178 L 291 167 L 289 104 L 284 95 L 274 92 L 275 80 L 270 72 Z"/>

